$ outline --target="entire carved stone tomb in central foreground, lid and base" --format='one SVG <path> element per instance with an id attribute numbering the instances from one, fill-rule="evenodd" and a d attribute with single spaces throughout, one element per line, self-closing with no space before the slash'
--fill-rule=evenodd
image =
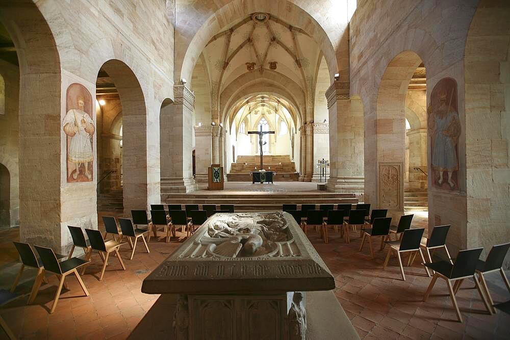
<path id="1" fill-rule="evenodd" d="M 334 288 L 294 218 L 268 212 L 213 215 L 142 292 L 179 294 L 176 338 L 304 339 L 304 292 Z"/>

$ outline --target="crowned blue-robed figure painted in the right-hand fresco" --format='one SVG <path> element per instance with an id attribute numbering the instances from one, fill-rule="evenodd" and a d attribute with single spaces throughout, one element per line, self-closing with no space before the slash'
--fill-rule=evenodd
<path id="1" fill-rule="evenodd" d="M 449 93 L 441 91 L 439 102 L 432 98 L 432 104 L 427 108 L 427 123 L 433 138 L 432 170 L 439 172 L 437 179 L 439 186 L 443 184 L 446 172 L 448 185 L 451 189 L 455 187 L 452 174 L 453 171 L 458 170 L 457 143 L 461 133 L 458 112 L 452 106 L 453 92 L 453 88 L 449 90 Z M 434 105 L 435 102 L 436 105 Z"/>

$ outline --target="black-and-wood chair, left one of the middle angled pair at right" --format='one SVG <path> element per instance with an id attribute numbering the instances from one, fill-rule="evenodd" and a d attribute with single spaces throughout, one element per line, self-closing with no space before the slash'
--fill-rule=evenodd
<path id="1" fill-rule="evenodd" d="M 386 244 L 390 246 L 388 249 L 388 255 L 386 256 L 386 260 L 384 261 L 384 265 L 382 265 L 382 269 L 386 269 L 388 265 L 388 261 L 390 260 L 391 253 L 394 251 L 397 255 L 398 265 L 400 266 L 400 273 L 402 274 L 402 280 L 405 281 L 404 267 L 402 266 L 402 253 L 410 253 L 409 261 L 407 262 L 407 266 L 411 266 L 414 260 L 414 254 L 420 253 L 421 259 L 423 263 L 425 263 L 425 257 L 423 257 L 423 253 L 420 248 L 420 241 L 423 236 L 423 232 L 425 228 L 420 229 L 407 229 L 403 232 L 403 237 L 401 241 L 386 241 Z M 425 267 L 425 272 L 427 276 L 430 276 L 428 272 L 428 268 Z"/>

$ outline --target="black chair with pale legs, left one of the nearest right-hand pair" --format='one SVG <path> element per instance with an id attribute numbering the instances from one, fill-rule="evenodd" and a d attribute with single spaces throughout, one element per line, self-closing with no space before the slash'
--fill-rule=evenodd
<path id="1" fill-rule="evenodd" d="M 483 303 L 485 304 L 487 310 L 490 314 L 492 314 L 492 310 L 487 302 L 486 297 L 483 295 L 481 290 L 480 281 L 478 281 L 478 277 L 475 275 L 476 265 L 478 264 L 478 258 L 480 257 L 481 251 L 483 248 L 474 248 L 468 250 L 461 250 L 458 252 L 457 257 L 455 259 L 455 263 L 452 264 L 451 261 L 438 261 L 434 263 L 426 263 L 425 266 L 432 269 L 434 271 L 434 275 L 430 284 L 428 285 L 427 291 L 423 296 L 423 301 L 426 301 L 428 295 L 432 291 L 434 284 L 436 283 L 438 278 L 442 278 L 446 281 L 448 285 L 448 291 L 450 293 L 450 298 L 455 307 L 455 311 L 457 313 L 457 318 L 459 322 L 462 322 L 461 311 L 458 309 L 457 299 L 455 299 L 455 289 L 454 285 L 456 285 L 457 281 L 462 281 L 467 278 L 472 278 L 475 281 L 476 289 L 478 290 L 478 294 L 480 294 Z M 458 284 L 460 286 L 460 283 Z M 458 289 L 458 287 L 456 287 Z"/>

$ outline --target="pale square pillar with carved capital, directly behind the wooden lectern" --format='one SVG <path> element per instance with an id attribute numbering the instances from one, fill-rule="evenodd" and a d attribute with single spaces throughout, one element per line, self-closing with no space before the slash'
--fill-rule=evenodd
<path id="1" fill-rule="evenodd" d="M 211 125 L 193 126 L 195 130 L 195 182 L 198 186 L 207 187 L 207 171 L 212 163 L 212 130 Z"/>

